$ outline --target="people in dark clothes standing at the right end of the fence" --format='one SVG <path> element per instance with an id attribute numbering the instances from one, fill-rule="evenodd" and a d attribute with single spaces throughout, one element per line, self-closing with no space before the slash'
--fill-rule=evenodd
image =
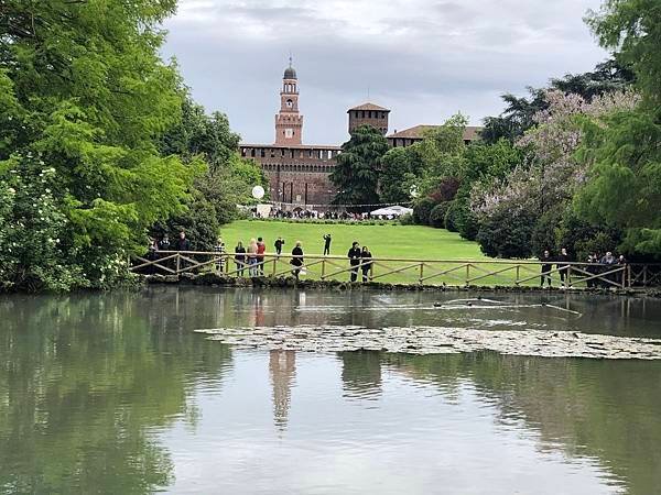
<path id="1" fill-rule="evenodd" d="M 544 287 L 544 284 L 546 283 L 549 284 L 549 287 L 551 287 L 551 272 L 553 272 L 553 264 L 555 264 L 555 270 L 560 274 L 561 285 L 567 285 L 568 265 L 566 265 L 566 263 L 571 263 L 572 260 L 565 248 L 561 249 L 560 254 L 556 256 L 552 256 L 551 252 L 545 250 L 540 256 L 540 262 L 542 262 L 542 275 L 540 280 L 542 287 Z M 599 285 L 608 285 L 606 280 L 621 282 L 622 274 L 615 274 L 619 276 L 619 280 L 617 279 L 618 277 L 613 276 L 613 274 L 607 274 L 604 277 L 590 277 L 608 272 L 609 267 L 613 265 L 626 265 L 627 260 L 621 254 L 615 256 L 611 251 L 607 251 L 603 256 L 599 256 L 597 253 L 588 255 L 586 263 L 589 263 L 589 265 L 582 265 L 578 268 L 584 272 L 582 275 L 588 277 L 586 280 L 587 286 L 597 287 Z"/>

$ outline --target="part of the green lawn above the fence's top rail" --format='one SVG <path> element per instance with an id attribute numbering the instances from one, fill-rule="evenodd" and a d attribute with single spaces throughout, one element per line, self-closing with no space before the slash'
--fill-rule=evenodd
<path id="1" fill-rule="evenodd" d="M 306 255 L 324 252 L 324 234 L 333 237 L 330 254 L 346 255 L 351 242 L 367 245 L 375 257 L 405 257 L 418 260 L 487 260 L 475 242 L 466 241 L 459 234 L 443 229 L 420 226 L 347 226 L 288 223 L 275 221 L 240 220 L 225 226 L 220 234 L 228 252 L 232 252 L 237 241 L 243 245 L 251 238 L 262 237 L 267 252 L 273 252 L 278 235 L 285 240 L 283 253 L 291 253 L 296 241 L 303 243 Z"/>

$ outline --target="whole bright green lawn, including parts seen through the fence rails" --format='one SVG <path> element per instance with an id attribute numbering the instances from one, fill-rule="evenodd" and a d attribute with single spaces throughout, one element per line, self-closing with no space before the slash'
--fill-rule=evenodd
<path id="1" fill-rule="evenodd" d="M 332 257 L 322 257 L 324 251 L 323 235 L 333 237 Z M 375 258 L 373 280 L 383 283 L 416 284 L 421 278 L 430 285 L 480 285 L 512 286 L 516 279 L 521 285 L 539 285 L 540 265 L 498 261 L 485 256 L 477 243 L 466 241 L 458 234 L 443 229 L 420 226 L 400 224 L 316 224 L 305 222 L 280 222 L 260 220 L 240 220 L 221 228 L 220 234 L 228 253 L 234 253 L 240 240 L 247 246 L 250 239 L 263 238 L 267 254 L 274 253 L 273 243 L 279 235 L 284 241 L 283 255 L 291 254 L 296 241 L 301 241 L 305 253 L 306 273 L 303 278 L 321 278 L 347 280 L 349 266 L 346 258 L 351 242 L 358 241 L 367 245 Z M 315 258 L 315 256 L 319 256 Z M 333 256 L 339 256 L 334 258 Z M 401 258 L 402 261 L 383 261 L 383 258 Z M 423 260 L 410 263 L 405 260 Z M 436 260 L 436 262 L 434 262 Z M 466 264 L 452 262 L 470 261 Z M 430 263 L 426 263 L 426 262 Z M 234 263 L 229 267 L 235 270 Z M 289 258 L 267 257 L 266 275 L 289 275 Z M 397 273 L 391 273 L 398 271 Z M 503 271 L 494 274 L 494 272 Z M 247 275 L 247 274 L 246 274 Z M 557 274 L 552 275 L 553 285 L 559 285 Z"/>

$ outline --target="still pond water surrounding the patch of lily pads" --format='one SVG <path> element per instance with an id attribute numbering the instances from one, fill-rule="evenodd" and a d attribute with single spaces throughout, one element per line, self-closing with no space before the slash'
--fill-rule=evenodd
<path id="1" fill-rule="evenodd" d="M 661 493 L 661 361 L 239 351 L 194 332 L 430 324 L 661 338 L 661 300 L 433 307 L 458 297 L 2 297 L 0 492 Z"/>

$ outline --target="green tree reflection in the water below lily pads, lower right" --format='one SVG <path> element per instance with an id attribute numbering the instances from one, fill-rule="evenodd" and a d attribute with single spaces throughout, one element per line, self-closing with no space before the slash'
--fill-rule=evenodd
<path id="1" fill-rule="evenodd" d="M 480 352 L 383 354 L 383 364 L 451 396 L 469 380 L 502 419 L 519 418 L 539 431 L 542 446 L 599 459 L 629 493 L 661 486 L 661 363 Z"/>

